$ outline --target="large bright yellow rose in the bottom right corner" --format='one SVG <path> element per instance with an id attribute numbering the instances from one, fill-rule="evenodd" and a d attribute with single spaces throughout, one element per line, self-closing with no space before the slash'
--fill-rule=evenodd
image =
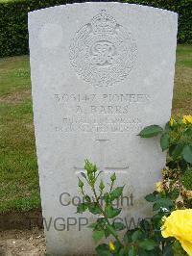
<path id="1" fill-rule="evenodd" d="M 176 210 L 162 220 L 163 238 L 175 237 L 189 256 L 192 256 L 192 209 Z"/>

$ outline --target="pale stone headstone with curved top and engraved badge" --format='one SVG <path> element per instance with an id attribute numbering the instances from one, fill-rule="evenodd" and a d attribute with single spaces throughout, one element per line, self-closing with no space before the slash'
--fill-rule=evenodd
<path id="1" fill-rule="evenodd" d="M 157 139 L 136 136 L 171 115 L 177 13 L 121 3 L 29 13 L 36 150 L 47 251 L 90 255 L 89 214 L 76 214 L 84 159 L 114 171 L 129 228 L 165 165 Z"/>

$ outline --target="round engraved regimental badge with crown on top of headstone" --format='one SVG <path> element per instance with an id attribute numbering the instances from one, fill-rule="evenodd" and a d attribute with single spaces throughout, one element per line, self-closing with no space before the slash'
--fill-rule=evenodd
<path id="1" fill-rule="evenodd" d="M 132 34 L 103 10 L 75 34 L 69 55 L 84 81 L 108 87 L 129 75 L 136 54 Z"/>

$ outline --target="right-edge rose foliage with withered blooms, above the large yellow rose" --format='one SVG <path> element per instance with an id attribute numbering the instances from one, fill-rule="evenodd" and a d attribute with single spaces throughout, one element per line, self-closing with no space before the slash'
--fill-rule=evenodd
<path id="1" fill-rule="evenodd" d="M 162 169 L 158 192 L 172 199 L 177 208 L 191 207 L 192 186 L 185 177 L 188 179 L 192 170 L 192 115 L 171 118 L 164 128 L 159 125 L 147 126 L 139 136 L 159 136 L 162 151 L 167 150 L 167 166 Z"/>

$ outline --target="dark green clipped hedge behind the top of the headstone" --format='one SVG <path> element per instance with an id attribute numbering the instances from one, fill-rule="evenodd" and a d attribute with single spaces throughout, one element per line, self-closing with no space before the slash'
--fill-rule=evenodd
<path id="1" fill-rule="evenodd" d="M 124 0 L 124 2 L 149 5 L 179 13 L 178 41 L 192 42 L 192 0 Z M 28 12 L 66 3 L 73 1 L 0 0 L 0 57 L 28 54 Z"/>

